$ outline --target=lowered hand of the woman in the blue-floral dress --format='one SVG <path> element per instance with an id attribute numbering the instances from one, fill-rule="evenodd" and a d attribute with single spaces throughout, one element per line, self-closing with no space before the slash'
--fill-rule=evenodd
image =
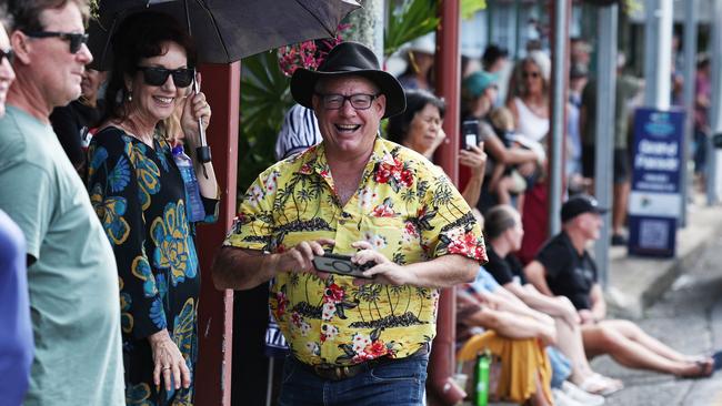
<path id="1" fill-rule="evenodd" d="M 153 352 L 153 383 L 160 386 L 161 375 L 166 383 L 166 392 L 170 392 L 171 385 L 174 389 L 180 389 L 181 383 L 184 388 L 191 386 L 191 372 L 185 365 L 185 359 L 180 349 L 170 336 L 167 329 L 148 337 L 150 347 Z"/>

